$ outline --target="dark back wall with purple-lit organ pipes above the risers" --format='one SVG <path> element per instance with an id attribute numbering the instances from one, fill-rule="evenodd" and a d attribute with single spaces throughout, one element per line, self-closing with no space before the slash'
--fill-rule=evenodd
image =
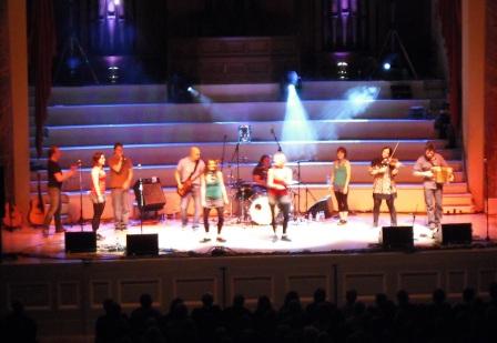
<path id="1" fill-rule="evenodd" d="M 366 64 L 378 58 L 392 24 L 419 75 L 440 74 L 430 58 L 442 49 L 433 39 L 430 0 L 123 0 L 114 20 L 108 19 L 106 1 L 54 0 L 58 57 L 79 53 L 68 49 L 72 33 L 103 78 L 105 58 L 113 56 L 126 70 L 122 80 L 163 81 L 172 72 L 171 40 L 290 37 L 303 75 L 333 79 L 335 53 L 346 52 L 351 78 L 365 79 L 372 68 Z M 398 44 L 395 50 L 399 52 Z M 136 70 L 128 70 L 130 65 Z"/>

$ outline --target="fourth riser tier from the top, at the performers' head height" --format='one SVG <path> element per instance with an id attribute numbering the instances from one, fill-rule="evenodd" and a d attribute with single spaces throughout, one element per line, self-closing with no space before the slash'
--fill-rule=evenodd
<path id="1" fill-rule="evenodd" d="M 329 161 L 335 158 L 336 149 L 345 147 L 348 155 L 354 160 L 371 161 L 379 157 L 382 148 L 385 145 L 395 147 L 397 141 L 321 141 L 321 142 L 282 142 L 283 152 L 288 161 L 313 160 Z M 446 142 L 442 140 L 432 141 L 437 150 L 446 160 L 456 160 L 460 158 L 457 149 L 443 150 Z M 221 159 L 223 153 L 222 143 L 176 143 L 176 144 L 144 144 L 144 145 L 126 145 L 126 154 L 133 159 L 135 164 L 175 164 L 180 159 L 189 154 L 190 148 L 196 145 L 202 151 L 203 159 Z M 414 161 L 423 152 L 426 145 L 425 140 L 402 141 L 397 149 L 396 155 L 400 160 Z M 87 145 L 64 148 L 62 147 L 63 157 L 61 164 L 68 167 L 78 160 L 83 161 L 83 165 L 90 165 L 91 158 L 94 152 L 101 151 L 105 155 L 112 154 L 112 145 Z M 230 161 L 235 152 L 236 144 L 227 143 L 225 147 L 225 161 Z M 256 162 L 262 154 L 273 154 L 278 147 L 275 142 L 252 142 L 248 144 L 240 144 L 240 161 Z M 48 148 L 44 148 L 43 155 L 47 155 Z M 37 153 L 31 149 L 31 158 L 36 159 Z M 234 160 L 236 161 L 236 159 Z"/>

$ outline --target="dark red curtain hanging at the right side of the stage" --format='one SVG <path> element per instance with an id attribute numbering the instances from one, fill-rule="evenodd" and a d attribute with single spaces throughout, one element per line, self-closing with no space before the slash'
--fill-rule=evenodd
<path id="1" fill-rule="evenodd" d="M 449 71 L 449 105 L 450 119 L 455 129 L 460 125 L 460 94 L 462 94 L 462 0 L 439 0 L 439 16 L 442 34 Z"/>

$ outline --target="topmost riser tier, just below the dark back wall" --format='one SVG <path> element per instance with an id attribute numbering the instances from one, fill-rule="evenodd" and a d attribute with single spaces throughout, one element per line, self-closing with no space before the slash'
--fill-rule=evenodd
<path id="1" fill-rule="evenodd" d="M 445 97 L 445 82 L 442 80 L 427 81 L 306 81 L 303 80 L 301 97 L 303 99 L 341 99 L 352 89 L 374 87 L 378 89 L 377 98 L 390 98 L 392 84 L 409 84 L 413 98 Z M 194 88 L 204 97 L 213 101 L 276 101 L 280 99 L 278 83 L 245 83 L 245 84 L 200 84 Z M 89 85 L 89 87 L 54 87 L 51 103 L 134 103 L 161 102 L 168 99 L 168 85 Z"/>

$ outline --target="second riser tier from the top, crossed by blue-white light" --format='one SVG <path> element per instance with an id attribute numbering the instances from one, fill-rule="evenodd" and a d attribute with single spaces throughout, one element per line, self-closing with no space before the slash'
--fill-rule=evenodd
<path id="1" fill-rule="evenodd" d="M 310 120 L 406 119 L 410 107 L 428 105 L 427 100 L 379 100 L 361 104 L 347 100 L 303 102 Z M 285 102 L 57 105 L 48 109 L 47 124 L 283 121 L 285 110 Z"/>

